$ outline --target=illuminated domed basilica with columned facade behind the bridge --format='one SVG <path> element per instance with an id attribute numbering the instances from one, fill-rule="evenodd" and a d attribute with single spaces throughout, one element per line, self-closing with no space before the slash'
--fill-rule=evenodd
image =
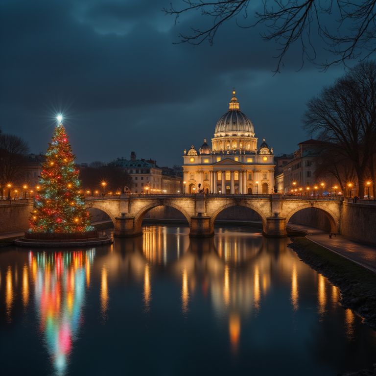
<path id="1" fill-rule="evenodd" d="M 254 193 L 274 191 L 274 155 L 265 139 L 259 149 L 253 124 L 240 111 L 233 91 L 229 110 L 217 122 L 211 147 L 184 150 L 185 193 Z"/>

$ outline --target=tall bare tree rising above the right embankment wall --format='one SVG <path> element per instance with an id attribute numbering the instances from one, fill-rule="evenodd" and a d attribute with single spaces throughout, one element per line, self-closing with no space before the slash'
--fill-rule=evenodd
<path id="1" fill-rule="evenodd" d="M 376 152 L 376 63 L 363 62 L 307 104 L 305 129 L 352 164 L 358 194 Z"/>

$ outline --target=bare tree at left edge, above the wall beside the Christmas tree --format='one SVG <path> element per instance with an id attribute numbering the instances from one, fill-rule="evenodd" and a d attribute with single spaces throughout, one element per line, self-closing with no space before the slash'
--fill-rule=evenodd
<path id="1" fill-rule="evenodd" d="M 25 174 L 24 155 L 28 151 L 27 143 L 20 137 L 0 133 L 1 191 L 7 183 L 20 184 L 23 182 Z"/>

